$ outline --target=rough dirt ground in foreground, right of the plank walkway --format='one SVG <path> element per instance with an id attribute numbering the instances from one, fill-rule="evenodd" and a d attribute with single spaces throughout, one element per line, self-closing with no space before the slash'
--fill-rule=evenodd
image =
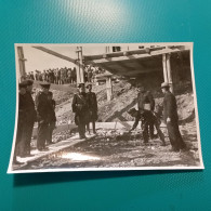
<path id="1" fill-rule="evenodd" d="M 167 136 L 166 129 L 162 130 Z M 161 146 L 159 139 L 144 144 L 139 129 L 133 133 L 126 129 L 97 129 L 95 137 L 39 158 L 24 169 L 199 166 L 196 128 L 186 123 L 181 127 L 181 132 L 188 151 L 170 151 L 168 137 L 167 146 Z"/>

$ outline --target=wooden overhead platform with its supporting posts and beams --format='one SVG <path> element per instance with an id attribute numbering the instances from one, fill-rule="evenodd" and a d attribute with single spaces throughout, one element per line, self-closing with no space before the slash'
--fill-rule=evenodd
<path id="1" fill-rule="evenodd" d="M 84 82 L 84 65 L 92 64 L 109 71 L 110 74 L 102 76 L 106 78 L 108 101 L 111 100 L 113 94 L 111 75 L 123 76 L 130 79 L 151 72 L 161 74 L 163 81 L 170 83 L 171 91 L 173 92 L 174 83 L 177 82 L 177 72 L 183 72 L 187 68 L 190 69 L 190 49 L 188 45 L 160 45 L 113 53 L 105 51 L 104 54 L 97 55 L 83 55 L 82 47 L 77 47 L 76 58 L 62 55 L 45 47 L 34 45 L 32 48 L 75 64 L 77 67 L 77 83 Z M 17 47 L 17 52 L 19 71 L 23 74 L 25 71 L 23 48 Z M 71 90 L 71 88 L 66 89 Z"/>

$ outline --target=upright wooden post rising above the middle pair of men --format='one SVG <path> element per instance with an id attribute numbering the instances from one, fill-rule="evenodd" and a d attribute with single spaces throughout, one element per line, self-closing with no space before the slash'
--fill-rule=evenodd
<path id="1" fill-rule="evenodd" d="M 76 54 L 78 62 L 82 64 L 82 47 L 77 47 Z M 80 64 L 76 66 L 77 83 L 84 83 L 84 71 Z"/>

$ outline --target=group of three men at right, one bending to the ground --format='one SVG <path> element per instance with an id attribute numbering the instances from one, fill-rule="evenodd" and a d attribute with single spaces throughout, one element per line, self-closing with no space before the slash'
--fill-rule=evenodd
<path id="1" fill-rule="evenodd" d="M 170 92 L 170 85 L 167 82 L 161 84 L 163 98 L 163 121 L 167 124 L 169 140 L 172 145 L 173 151 L 180 151 L 180 149 L 186 149 L 186 145 L 182 139 L 179 130 L 179 117 L 177 117 L 177 106 L 175 96 Z M 146 91 L 144 87 L 139 85 L 137 88 L 137 107 L 130 109 L 128 113 L 135 118 L 135 122 L 132 127 L 134 130 L 139 121 L 142 122 L 142 134 L 144 143 L 148 143 L 149 137 L 155 139 L 154 128 L 157 130 L 157 134 L 162 142 L 162 146 L 166 146 L 164 135 L 160 130 L 160 110 L 155 111 L 155 100 L 149 91 Z"/>

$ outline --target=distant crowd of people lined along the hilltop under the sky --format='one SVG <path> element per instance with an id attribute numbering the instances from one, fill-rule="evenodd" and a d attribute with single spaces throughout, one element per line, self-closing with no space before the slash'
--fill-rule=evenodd
<path id="1" fill-rule="evenodd" d="M 98 74 L 105 72 L 104 69 L 100 67 L 94 67 L 87 65 L 84 68 L 84 81 L 94 82 L 95 76 Z M 26 74 L 24 79 L 44 81 L 55 84 L 66 84 L 66 83 L 76 83 L 77 82 L 77 72 L 76 67 L 74 68 L 50 68 L 42 71 L 35 70 Z"/>

